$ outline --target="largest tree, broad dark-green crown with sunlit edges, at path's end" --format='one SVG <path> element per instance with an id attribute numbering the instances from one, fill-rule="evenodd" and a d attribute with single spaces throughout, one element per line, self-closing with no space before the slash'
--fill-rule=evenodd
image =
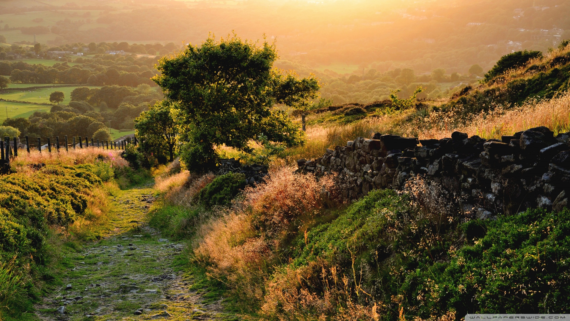
<path id="1" fill-rule="evenodd" d="M 276 104 L 306 109 L 320 89 L 314 75 L 299 79 L 273 67 L 275 44 L 262 46 L 236 35 L 201 46 L 188 45 L 158 62 L 152 78 L 165 99 L 178 110 L 181 160 L 192 171 L 209 170 L 217 162 L 216 147 L 226 145 L 250 153 L 250 141 L 261 134 L 287 146 L 303 142 L 303 134 Z"/>

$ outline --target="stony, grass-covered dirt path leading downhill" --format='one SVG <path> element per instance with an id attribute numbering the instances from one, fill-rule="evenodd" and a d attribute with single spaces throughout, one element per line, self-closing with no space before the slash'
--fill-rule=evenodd
<path id="1" fill-rule="evenodd" d="M 146 226 L 152 188 L 121 191 L 113 199 L 115 230 L 67 255 L 64 286 L 36 306 L 42 320 L 222 320 L 221 304 L 202 304 L 191 279 L 172 267 L 185 244 Z"/>

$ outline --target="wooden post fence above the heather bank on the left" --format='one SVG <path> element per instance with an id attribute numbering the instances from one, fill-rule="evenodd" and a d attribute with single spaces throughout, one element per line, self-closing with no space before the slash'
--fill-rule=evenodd
<path id="1" fill-rule="evenodd" d="M 124 150 L 125 147 L 128 145 L 138 145 L 138 141 L 136 137 L 127 137 L 127 139 L 123 139 L 121 141 L 99 141 L 99 139 L 89 140 L 87 136 L 82 137 L 72 137 L 72 139 L 68 139 L 67 135 L 63 137 L 63 141 L 59 140 L 59 136 L 56 137 L 48 137 L 42 139 L 40 137 L 34 139 L 30 139 L 25 137 L 26 142 L 22 143 L 21 139 L 18 137 L 14 137 L 10 139 L 10 137 L 4 137 L 3 141 L 0 141 L 0 160 L 3 160 L 4 163 L 10 163 L 11 159 L 18 157 L 18 152 L 23 151 L 26 149 L 27 153 L 30 153 L 31 150 L 38 150 L 39 153 L 52 153 L 52 151 L 59 153 L 60 151 L 65 150 L 66 152 L 71 149 L 84 149 L 84 148 L 98 148 L 98 149 L 110 149 L 110 150 Z M 53 139 L 53 140 L 52 140 Z M 37 143 L 36 143 L 37 142 Z"/>

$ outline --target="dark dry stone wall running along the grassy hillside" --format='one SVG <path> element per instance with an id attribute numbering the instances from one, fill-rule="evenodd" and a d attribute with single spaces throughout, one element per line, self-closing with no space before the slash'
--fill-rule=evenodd
<path id="1" fill-rule="evenodd" d="M 334 173 L 345 200 L 373 188 L 401 190 L 420 176 L 439 183 L 466 215 L 490 218 L 529 207 L 560 210 L 570 193 L 570 132 L 554 136 L 536 127 L 498 139 L 359 137 L 327 149 L 323 157 L 299 159 L 298 172 Z"/>

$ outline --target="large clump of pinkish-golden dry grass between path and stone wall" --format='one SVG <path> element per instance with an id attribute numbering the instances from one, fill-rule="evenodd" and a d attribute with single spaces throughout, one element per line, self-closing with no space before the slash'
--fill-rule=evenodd
<path id="1" fill-rule="evenodd" d="M 225 277 L 244 299 L 263 299 L 260 284 L 292 234 L 331 206 L 331 178 L 295 175 L 294 168 L 270 171 L 270 179 L 247 187 L 245 199 L 201 227 L 194 255 L 210 276 Z M 285 243 L 284 243 L 285 242 Z"/>

